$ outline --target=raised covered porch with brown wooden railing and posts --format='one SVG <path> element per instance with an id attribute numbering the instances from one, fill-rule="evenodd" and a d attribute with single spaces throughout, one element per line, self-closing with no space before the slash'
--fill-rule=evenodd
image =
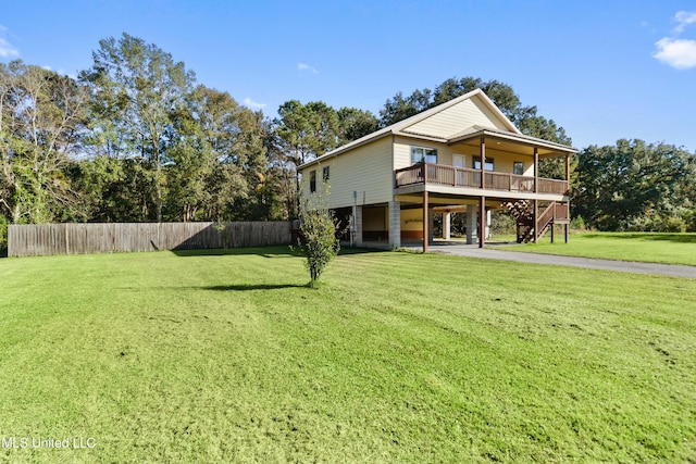
<path id="1" fill-rule="evenodd" d="M 490 210 L 507 209 L 517 220 L 518 241 L 537 241 L 550 227 L 563 224 L 566 241 L 570 223 L 570 156 L 575 149 L 522 134 L 472 127 L 447 142 L 449 149 L 431 162 L 395 171 L 394 198 L 401 204 L 419 204 L 424 237 L 432 231 L 432 215 L 465 208 L 467 241 L 483 247 Z M 561 158 L 558 178 L 539 176 L 539 162 Z M 475 233 L 474 233 L 475 230 Z M 445 230 L 445 237 L 448 236 Z M 427 251 L 428 240 L 423 240 Z"/>

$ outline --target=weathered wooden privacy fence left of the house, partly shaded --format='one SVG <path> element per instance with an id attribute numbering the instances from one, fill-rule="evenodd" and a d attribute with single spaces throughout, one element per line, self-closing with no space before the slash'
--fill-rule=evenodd
<path id="1" fill-rule="evenodd" d="M 290 240 L 289 222 L 10 225 L 8 255 L 269 247 Z"/>

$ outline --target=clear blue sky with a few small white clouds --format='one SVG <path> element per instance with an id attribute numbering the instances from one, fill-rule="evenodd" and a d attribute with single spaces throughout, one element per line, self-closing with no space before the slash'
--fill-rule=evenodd
<path id="1" fill-rule="evenodd" d="M 69 75 L 128 33 L 271 117 L 287 100 L 378 113 L 449 77 L 509 84 L 577 148 L 696 151 L 696 2 L 3 1 L 0 61 Z"/>

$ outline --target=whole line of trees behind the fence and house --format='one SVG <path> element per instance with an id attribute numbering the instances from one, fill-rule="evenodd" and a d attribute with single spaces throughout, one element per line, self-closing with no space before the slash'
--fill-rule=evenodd
<path id="1" fill-rule="evenodd" d="M 523 134 L 571 145 L 498 80 L 398 92 L 378 115 L 289 100 L 271 120 L 140 38 L 100 40 L 92 60 L 76 78 L 0 63 L 0 247 L 7 224 L 297 217 L 298 165 L 475 88 Z M 585 148 L 571 166 L 573 215 L 608 230 L 696 230 L 694 158 L 641 140 Z M 563 173 L 561 160 L 542 166 Z"/>

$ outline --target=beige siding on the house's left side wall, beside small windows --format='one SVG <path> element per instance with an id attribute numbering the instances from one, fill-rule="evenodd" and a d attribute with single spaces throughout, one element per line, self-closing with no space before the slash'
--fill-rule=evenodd
<path id="1" fill-rule="evenodd" d="M 309 173 L 316 170 L 318 189 L 322 181 L 322 168 L 331 166 L 328 208 L 346 208 L 357 203 L 374 204 L 391 200 L 394 174 L 391 168 L 391 137 L 384 137 L 356 148 L 321 164 L 306 167 L 302 172 L 302 195 L 309 195 Z"/>

